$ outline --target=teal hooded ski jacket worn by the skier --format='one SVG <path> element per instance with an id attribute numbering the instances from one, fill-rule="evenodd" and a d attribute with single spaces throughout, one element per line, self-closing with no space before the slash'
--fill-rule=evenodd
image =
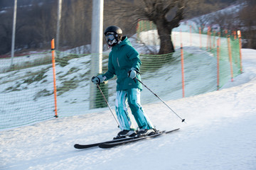
<path id="1" fill-rule="evenodd" d="M 141 64 L 139 52 L 132 47 L 131 42 L 125 36 L 122 38 L 122 42 L 112 47 L 109 55 L 108 70 L 105 74 L 102 74 L 102 77 L 108 80 L 117 75 L 117 91 L 133 88 L 142 90 L 142 84 L 139 81 L 135 82 L 134 79 L 128 77 L 129 70 L 134 67 L 139 71 Z M 139 74 L 137 74 L 137 79 L 141 79 Z"/>

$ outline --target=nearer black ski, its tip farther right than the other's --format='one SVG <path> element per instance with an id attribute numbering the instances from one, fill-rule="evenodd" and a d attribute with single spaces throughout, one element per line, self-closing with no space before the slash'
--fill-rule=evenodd
<path id="1" fill-rule="evenodd" d="M 158 132 L 155 135 L 149 135 L 149 136 L 144 136 L 144 137 L 132 137 L 131 139 L 124 140 L 124 141 L 119 141 L 119 142 L 117 142 L 117 141 L 102 142 L 98 146 L 100 148 L 107 149 L 107 148 L 115 147 L 115 146 L 118 146 L 118 145 L 124 145 L 124 144 L 130 143 L 130 142 L 137 142 L 139 140 L 144 140 L 144 139 L 151 138 L 151 137 L 158 137 L 159 135 L 163 135 L 163 134 L 166 134 L 166 133 L 171 133 L 171 132 L 174 132 L 176 130 L 179 130 L 179 128 L 178 129 L 174 129 L 174 130 L 169 130 L 169 131 Z"/>

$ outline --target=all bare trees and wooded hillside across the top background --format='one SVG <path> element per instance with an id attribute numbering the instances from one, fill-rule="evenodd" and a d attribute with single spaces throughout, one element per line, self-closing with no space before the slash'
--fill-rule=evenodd
<path id="1" fill-rule="evenodd" d="M 138 19 L 153 21 L 159 30 L 161 40 L 160 54 L 173 52 L 171 30 L 179 21 L 200 16 L 229 6 L 231 0 L 105 0 L 104 27 L 120 26 L 125 35 L 136 33 Z M 244 1 L 242 1 L 244 2 Z M 221 23 L 223 27 L 234 25 L 227 21 L 239 20 L 244 28 L 243 35 L 248 39 L 245 47 L 255 47 L 255 1 L 246 0 L 239 16 L 219 13 L 210 16 L 212 23 Z M 0 55 L 11 50 L 11 30 L 14 2 L 0 1 Z M 49 49 L 51 38 L 55 38 L 57 0 L 18 1 L 16 23 L 17 49 Z M 60 28 L 60 50 L 64 47 L 77 47 L 90 44 L 92 23 L 92 0 L 63 0 L 63 20 Z M 229 20 L 223 20 L 229 18 Z M 206 21 L 205 21 L 206 22 Z M 209 23 L 209 21 L 207 21 Z M 227 26 L 228 23 L 228 26 Z M 235 24 L 237 24 L 236 22 Z M 246 29 L 245 29 L 246 28 Z M 252 36 L 254 35 L 254 36 Z"/>

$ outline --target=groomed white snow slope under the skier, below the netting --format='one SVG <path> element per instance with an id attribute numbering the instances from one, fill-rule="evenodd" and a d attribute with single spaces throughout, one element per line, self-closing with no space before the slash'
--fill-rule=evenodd
<path id="1" fill-rule="evenodd" d="M 244 73 L 220 91 L 144 105 L 159 130 L 178 132 L 112 149 L 75 143 L 110 140 L 110 111 L 0 131 L 0 169 L 256 169 L 256 50 L 242 49 Z M 146 89 L 144 89 L 146 91 Z M 142 91 L 142 96 L 143 96 Z M 154 95 L 151 96 L 154 98 Z"/>

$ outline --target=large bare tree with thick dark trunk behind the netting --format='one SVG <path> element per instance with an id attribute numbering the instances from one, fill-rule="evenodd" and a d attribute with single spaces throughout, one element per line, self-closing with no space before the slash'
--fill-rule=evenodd
<path id="1" fill-rule="evenodd" d="M 114 1 L 114 4 L 108 4 L 106 13 L 123 17 L 123 20 L 133 18 L 134 23 L 140 19 L 153 21 L 160 38 L 159 54 L 166 54 L 174 52 L 171 30 L 178 27 L 183 20 L 185 6 L 185 0 L 137 0 L 134 2 L 119 0 Z"/>

